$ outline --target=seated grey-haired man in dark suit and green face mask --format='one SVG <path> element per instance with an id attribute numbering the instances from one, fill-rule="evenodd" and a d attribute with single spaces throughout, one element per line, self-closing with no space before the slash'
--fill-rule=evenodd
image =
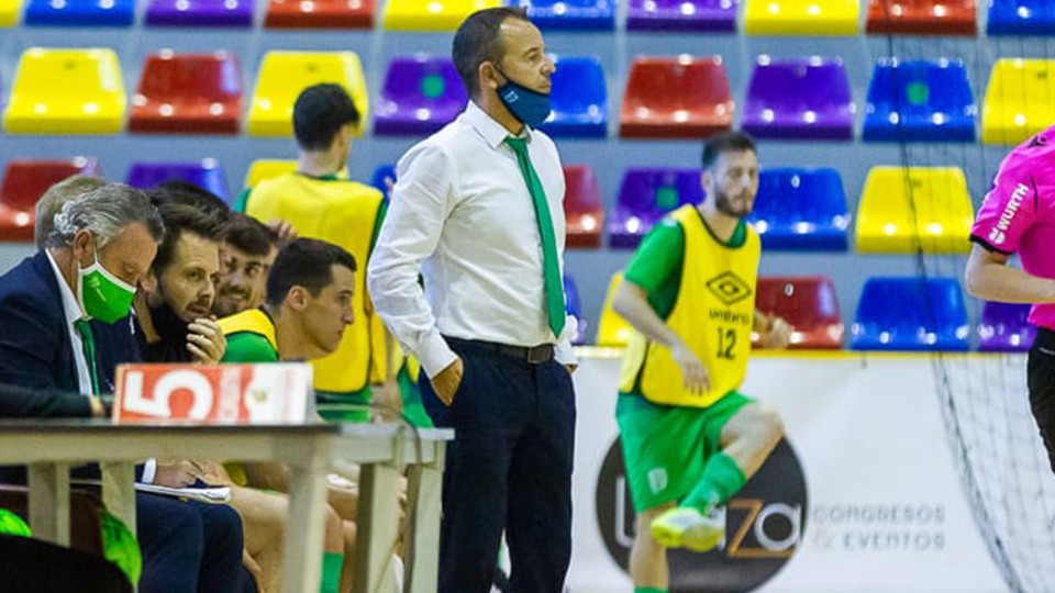
<path id="1" fill-rule="evenodd" d="M 114 367 L 136 359 L 127 316 L 164 225 L 141 191 L 113 183 L 64 205 L 54 226 L 47 250 L 0 276 L 0 384 L 112 392 Z M 148 466 L 143 478 L 168 484 L 188 471 Z M 241 591 L 233 510 L 141 494 L 136 513 L 142 593 Z"/>

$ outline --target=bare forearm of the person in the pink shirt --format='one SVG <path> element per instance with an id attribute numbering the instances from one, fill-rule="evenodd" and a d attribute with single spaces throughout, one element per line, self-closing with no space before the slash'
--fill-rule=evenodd
<path id="1" fill-rule="evenodd" d="M 964 272 L 967 292 L 1002 303 L 1055 303 L 1055 280 L 1008 266 L 1010 257 L 976 243 Z"/>

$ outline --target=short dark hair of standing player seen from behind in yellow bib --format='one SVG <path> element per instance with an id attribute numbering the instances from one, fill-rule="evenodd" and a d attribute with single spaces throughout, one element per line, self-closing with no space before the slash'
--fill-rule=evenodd
<path id="1" fill-rule="evenodd" d="M 293 103 L 293 136 L 304 150 L 325 150 L 341 128 L 358 125 L 362 115 L 341 85 L 323 82 L 300 91 Z"/>

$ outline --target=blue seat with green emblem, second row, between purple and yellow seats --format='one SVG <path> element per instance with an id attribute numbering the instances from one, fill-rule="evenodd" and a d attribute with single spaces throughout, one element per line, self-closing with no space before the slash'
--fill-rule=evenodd
<path id="1" fill-rule="evenodd" d="M 879 59 L 868 86 L 866 142 L 974 142 L 978 107 L 959 60 Z"/>

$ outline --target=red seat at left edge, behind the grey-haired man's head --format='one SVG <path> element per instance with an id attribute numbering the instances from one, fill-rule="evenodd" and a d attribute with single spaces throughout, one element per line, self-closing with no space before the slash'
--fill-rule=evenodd
<path id="1" fill-rule="evenodd" d="M 74 175 L 101 176 L 95 158 L 11 160 L 0 186 L 0 240 L 33 240 L 36 201 L 48 188 Z"/>

